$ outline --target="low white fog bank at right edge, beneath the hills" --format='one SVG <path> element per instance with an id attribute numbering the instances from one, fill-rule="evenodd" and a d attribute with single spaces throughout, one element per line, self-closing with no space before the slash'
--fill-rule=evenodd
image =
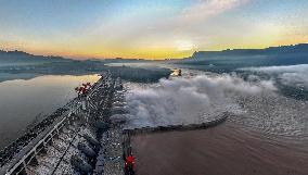
<path id="1" fill-rule="evenodd" d="M 245 67 L 243 71 L 266 73 L 278 77 L 278 80 L 287 86 L 299 86 L 308 90 L 308 64 Z"/>

